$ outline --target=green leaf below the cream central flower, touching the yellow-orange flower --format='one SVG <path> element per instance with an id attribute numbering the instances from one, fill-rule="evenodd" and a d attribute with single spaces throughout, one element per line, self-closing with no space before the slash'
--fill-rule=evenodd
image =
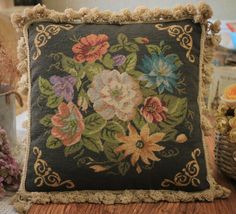
<path id="1" fill-rule="evenodd" d="M 115 121 L 108 121 L 106 126 L 102 129 L 101 138 L 108 142 L 117 142 L 115 135 L 117 133 L 125 134 L 123 127 Z"/>

